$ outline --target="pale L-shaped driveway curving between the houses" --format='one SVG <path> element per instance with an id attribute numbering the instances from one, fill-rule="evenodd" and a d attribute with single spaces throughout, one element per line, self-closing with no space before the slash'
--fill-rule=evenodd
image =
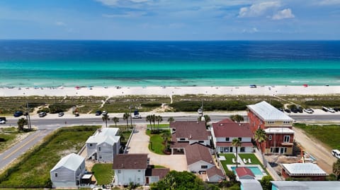
<path id="1" fill-rule="evenodd" d="M 146 153 L 152 165 L 162 165 L 179 172 L 187 171 L 186 155 L 158 155 L 149 150 L 149 136 L 146 134 L 146 129 L 147 125 L 137 124 L 128 147 L 128 153 Z"/>

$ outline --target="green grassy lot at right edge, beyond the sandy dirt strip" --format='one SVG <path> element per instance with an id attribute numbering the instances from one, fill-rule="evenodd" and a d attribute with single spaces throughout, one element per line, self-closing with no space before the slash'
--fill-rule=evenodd
<path id="1" fill-rule="evenodd" d="M 340 149 L 340 125 L 306 125 L 294 124 L 304 130 L 308 136 L 316 138 L 330 148 Z"/>

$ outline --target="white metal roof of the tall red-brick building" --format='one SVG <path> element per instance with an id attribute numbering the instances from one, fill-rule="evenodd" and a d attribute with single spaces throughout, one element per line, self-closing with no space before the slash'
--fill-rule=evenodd
<path id="1" fill-rule="evenodd" d="M 256 105 L 247 105 L 246 107 L 265 121 L 293 121 L 288 115 L 280 112 L 266 101 L 259 102 Z"/>

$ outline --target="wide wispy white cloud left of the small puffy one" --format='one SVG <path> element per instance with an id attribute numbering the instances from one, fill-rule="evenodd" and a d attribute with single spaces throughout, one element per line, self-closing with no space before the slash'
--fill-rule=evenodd
<path id="1" fill-rule="evenodd" d="M 259 4 L 253 4 L 249 7 L 242 7 L 239 9 L 239 17 L 255 17 L 261 16 L 268 10 L 278 8 L 280 6 L 279 1 L 261 2 Z"/>

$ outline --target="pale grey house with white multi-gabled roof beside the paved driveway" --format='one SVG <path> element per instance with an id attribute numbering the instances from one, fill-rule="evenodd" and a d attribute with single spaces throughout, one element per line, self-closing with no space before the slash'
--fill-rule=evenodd
<path id="1" fill-rule="evenodd" d="M 86 141 L 86 158 L 98 162 L 113 162 L 120 149 L 118 130 L 118 128 L 98 129 Z"/>

